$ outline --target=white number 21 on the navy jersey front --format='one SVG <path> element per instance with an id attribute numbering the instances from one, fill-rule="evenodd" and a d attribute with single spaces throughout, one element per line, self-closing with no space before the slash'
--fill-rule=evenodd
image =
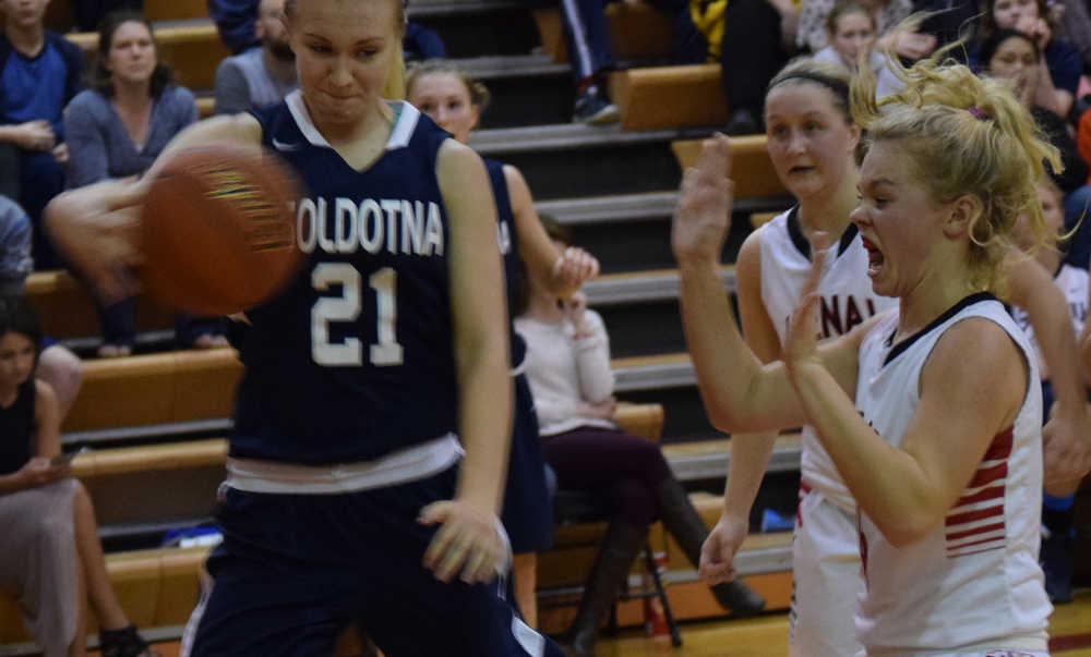
<path id="1" fill-rule="evenodd" d="M 360 366 L 363 365 L 363 345 L 359 338 L 345 338 L 343 342 L 329 342 L 331 321 L 356 321 L 363 306 L 360 289 L 360 272 L 347 263 L 322 263 L 311 272 L 311 284 L 319 292 L 329 285 L 340 285 L 340 296 L 323 296 L 311 308 L 311 356 L 319 365 Z M 394 330 L 397 318 L 397 272 L 393 267 L 383 267 L 368 278 L 368 284 L 375 291 L 375 336 L 369 361 L 372 365 L 400 365 L 401 345 Z"/>

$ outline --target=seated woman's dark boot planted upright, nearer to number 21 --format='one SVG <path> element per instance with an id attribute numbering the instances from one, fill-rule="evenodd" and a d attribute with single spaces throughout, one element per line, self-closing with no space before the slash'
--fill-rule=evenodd
<path id="1" fill-rule="evenodd" d="M 576 612 L 572 625 L 558 641 L 565 655 L 570 657 L 595 655 L 595 640 L 599 635 L 602 615 L 618 599 L 633 560 L 640 553 L 647 540 L 648 527 L 638 527 L 616 520 L 610 522 L 607 534 L 602 537 L 599 553 L 595 558 L 595 565 L 591 567 L 591 572 L 584 584 L 579 611 Z"/>

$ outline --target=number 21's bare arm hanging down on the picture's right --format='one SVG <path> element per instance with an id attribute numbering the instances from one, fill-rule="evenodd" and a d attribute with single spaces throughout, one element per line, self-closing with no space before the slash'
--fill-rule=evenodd
<path id="1" fill-rule="evenodd" d="M 460 575 L 485 582 L 509 556 L 496 519 L 511 440 L 512 384 L 495 204 L 481 159 L 454 139 L 441 147 L 436 173 L 451 227 L 451 307 L 466 459 L 455 499 L 421 511 L 422 523 L 443 525 L 424 565 L 443 581 Z"/>

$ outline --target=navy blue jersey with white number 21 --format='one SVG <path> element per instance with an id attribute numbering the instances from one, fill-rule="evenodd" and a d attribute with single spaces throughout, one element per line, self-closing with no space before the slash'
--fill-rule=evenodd
<path id="1" fill-rule="evenodd" d="M 248 312 L 231 453 L 324 464 L 372 460 L 456 430 L 447 218 L 435 177 L 447 133 L 408 104 L 385 153 L 351 169 L 298 92 L 256 110 L 262 142 L 305 192 L 308 254 L 278 297 Z"/>

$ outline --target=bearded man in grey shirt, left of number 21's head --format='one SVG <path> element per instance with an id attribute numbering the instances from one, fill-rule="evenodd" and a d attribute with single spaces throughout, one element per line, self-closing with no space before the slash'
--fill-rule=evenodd
<path id="1" fill-rule="evenodd" d="M 260 48 L 229 57 L 216 69 L 216 113 L 237 114 L 279 102 L 299 86 L 296 53 L 284 26 L 284 0 L 262 0 L 254 36 Z"/>

